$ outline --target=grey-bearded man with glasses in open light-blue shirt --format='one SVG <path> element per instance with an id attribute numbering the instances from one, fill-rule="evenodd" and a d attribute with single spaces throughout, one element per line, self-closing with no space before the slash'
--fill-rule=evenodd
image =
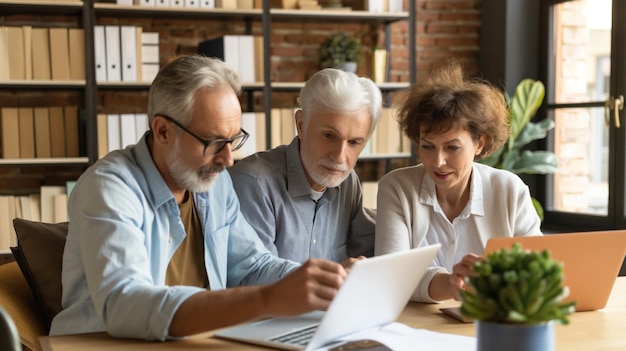
<path id="1" fill-rule="evenodd" d="M 161 69 L 150 130 L 72 191 L 64 309 L 51 335 L 167 340 L 328 307 L 345 269 L 273 256 L 239 210 L 224 172 L 248 138 L 239 92 L 216 59 L 180 57 Z"/>

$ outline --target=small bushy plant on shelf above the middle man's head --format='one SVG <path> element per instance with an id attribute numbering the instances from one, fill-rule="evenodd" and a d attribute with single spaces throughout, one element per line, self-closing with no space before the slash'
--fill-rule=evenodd
<path id="1" fill-rule="evenodd" d="M 361 41 L 345 33 L 331 34 L 320 46 L 319 59 L 322 68 L 356 72 L 361 59 Z"/>

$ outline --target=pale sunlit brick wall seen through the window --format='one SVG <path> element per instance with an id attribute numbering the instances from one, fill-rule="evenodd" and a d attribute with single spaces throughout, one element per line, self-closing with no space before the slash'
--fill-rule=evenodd
<path id="1" fill-rule="evenodd" d="M 585 69 L 579 69 L 592 51 L 587 29 L 587 17 L 581 15 L 586 1 L 565 3 L 557 7 L 555 38 L 555 91 L 557 102 L 586 100 L 589 84 Z M 597 186 L 590 182 L 589 150 L 592 149 L 590 130 L 596 111 L 586 108 L 564 109 L 555 113 L 554 151 L 557 154 L 560 172 L 554 175 L 554 208 L 562 211 L 588 211 L 589 188 Z M 594 189 L 594 188 L 592 188 Z M 603 188 L 595 193 L 602 197 Z M 592 193 L 592 192 L 589 192 Z M 600 208 L 602 208 L 600 206 Z"/>

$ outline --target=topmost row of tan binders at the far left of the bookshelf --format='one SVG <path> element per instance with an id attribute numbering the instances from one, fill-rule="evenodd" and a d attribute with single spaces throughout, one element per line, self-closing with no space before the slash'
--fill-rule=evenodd
<path id="1" fill-rule="evenodd" d="M 0 27 L 0 80 L 84 80 L 81 28 Z"/>

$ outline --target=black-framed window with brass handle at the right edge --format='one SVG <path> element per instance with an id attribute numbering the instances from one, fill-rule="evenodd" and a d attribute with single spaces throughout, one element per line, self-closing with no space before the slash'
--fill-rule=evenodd
<path id="1" fill-rule="evenodd" d="M 547 177 L 544 224 L 624 228 L 626 121 L 619 99 L 625 94 L 626 45 L 617 38 L 625 38 L 626 25 L 613 17 L 623 17 L 626 6 L 611 0 L 544 5 L 545 105 L 555 121 L 548 141 L 560 169 Z"/>

